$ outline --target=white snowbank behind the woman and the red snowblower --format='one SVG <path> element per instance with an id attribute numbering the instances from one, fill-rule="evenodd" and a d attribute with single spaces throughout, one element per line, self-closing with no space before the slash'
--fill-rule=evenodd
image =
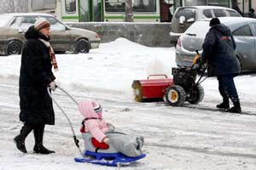
<path id="1" fill-rule="evenodd" d="M 170 76 L 175 65 L 174 48 L 148 48 L 125 38 L 102 43 L 90 54 L 57 54 L 56 59 L 57 83 L 125 92 L 131 91 L 133 80 L 148 74 Z M 1 58 L 0 67 L 0 75 L 19 76 L 20 55 Z"/>

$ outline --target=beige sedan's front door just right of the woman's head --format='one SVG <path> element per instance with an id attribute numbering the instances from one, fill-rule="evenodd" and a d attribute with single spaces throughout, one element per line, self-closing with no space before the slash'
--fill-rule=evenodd
<path id="1" fill-rule="evenodd" d="M 69 29 L 67 29 L 67 26 L 65 26 L 61 21 L 56 20 L 55 17 L 41 16 L 41 18 L 49 20 L 50 43 L 55 52 L 69 50 L 71 47 L 71 35 Z"/>

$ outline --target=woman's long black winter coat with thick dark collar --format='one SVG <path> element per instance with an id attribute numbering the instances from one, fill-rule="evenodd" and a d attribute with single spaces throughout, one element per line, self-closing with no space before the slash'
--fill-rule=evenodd
<path id="1" fill-rule="evenodd" d="M 47 85 L 55 80 L 51 68 L 49 48 L 38 38 L 49 41 L 31 26 L 21 55 L 20 66 L 20 121 L 37 124 L 55 124 L 55 112 Z"/>

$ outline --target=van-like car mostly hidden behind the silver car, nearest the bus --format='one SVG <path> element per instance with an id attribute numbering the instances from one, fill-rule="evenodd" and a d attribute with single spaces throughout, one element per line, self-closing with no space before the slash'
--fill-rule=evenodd
<path id="1" fill-rule="evenodd" d="M 176 45 L 178 37 L 196 20 L 226 16 L 241 17 L 241 14 L 232 8 L 218 6 L 187 6 L 177 8 L 172 17 L 171 42 Z"/>

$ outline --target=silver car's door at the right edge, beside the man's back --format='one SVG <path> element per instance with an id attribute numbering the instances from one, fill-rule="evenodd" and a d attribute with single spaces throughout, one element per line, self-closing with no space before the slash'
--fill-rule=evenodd
<path id="1" fill-rule="evenodd" d="M 255 37 L 252 26 L 244 25 L 232 32 L 236 41 L 236 54 L 241 61 L 242 70 L 255 70 Z"/>

